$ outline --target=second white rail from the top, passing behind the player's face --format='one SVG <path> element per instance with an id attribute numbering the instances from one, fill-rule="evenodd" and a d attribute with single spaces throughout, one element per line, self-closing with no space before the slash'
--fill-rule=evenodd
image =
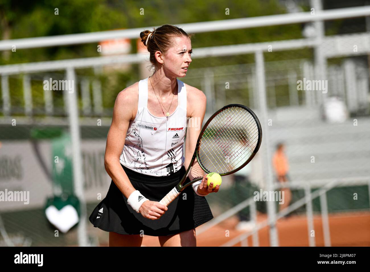
<path id="1" fill-rule="evenodd" d="M 342 56 L 353 54 L 353 50 L 341 50 L 337 53 L 333 47 L 336 44 L 342 43 L 342 36 L 330 36 L 325 37 L 322 46 L 323 52 L 326 57 Z M 358 44 L 359 50 L 363 54 L 370 53 L 370 44 L 366 42 L 370 40 L 370 33 L 353 34 L 351 44 Z M 348 44 L 348 43 L 346 43 Z M 218 56 L 232 56 L 240 54 L 254 54 L 256 51 L 267 51 L 268 46 L 272 45 L 274 51 L 290 50 L 290 49 L 301 49 L 307 47 L 314 47 L 317 41 L 314 39 L 297 39 L 297 40 L 286 40 L 286 41 L 269 41 L 265 43 L 252 43 L 252 44 L 237 44 L 229 46 L 213 46 L 213 47 L 201 47 L 195 48 L 196 55 L 192 56 L 195 58 L 204 57 L 218 57 Z M 356 53 L 359 54 L 359 53 Z M 68 67 L 74 68 L 90 68 L 100 67 L 104 65 L 117 64 L 117 63 L 141 63 L 145 61 L 144 54 L 127 54 L 121 56 L 105 56 L 105 57 L 91 57 L 91 58 L 78 58 L 70 60 L 57 60 L 57 61 L 43 61 L 36 63 L 22 63 L 22 64 L 9 64 L 0 66 L 0 74 L 20 74 L 20 73 L 36 73 L 43 71 L 60 71 L 67 69 Z"/>

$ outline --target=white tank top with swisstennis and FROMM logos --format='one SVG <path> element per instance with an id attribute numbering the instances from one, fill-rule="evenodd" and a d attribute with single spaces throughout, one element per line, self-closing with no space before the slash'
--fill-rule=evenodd
<path id="1" fill-rule="evenodd" d="M 186 88 L 180 80 L 177 84 L 175 112 L 168 117 L 157 117 L 147 108 L 148 78 L 139 81 L 138 111 L 135 119 L 129 122 L 120 157 L 124 167 L 145 175 L 168 176 L 179 171 L 184 164 Z"/>

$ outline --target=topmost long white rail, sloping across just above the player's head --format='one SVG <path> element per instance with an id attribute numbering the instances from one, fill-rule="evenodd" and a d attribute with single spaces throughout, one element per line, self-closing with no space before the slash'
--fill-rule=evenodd
<path id="1" fill-rule="evenodd" d="M 283 24 L 304 23 L 310 21 L 334 20 L 370 15 L 370 6 L 350 7 L 343 9 L 332 9 L 316 11 L 315 15 L 310 12 L 299 12 L 291 14 L 278 14 L 269 16 L 258 16 L 241 19 L 217 20 L 199 23 L 177 24 L 188 33 L 201 33 L 209 31 L 222 31 L 240 28 L 252 28 L 263 26 L 276 26 Z M 113 38 L 139 38 L 139 33 L 145 29 L 157 28 L 149 26 L 131 28 L 125 30 L 110 30 L 91 33 L 68 34 L 50 37 L 22 38 L 0 41 L 0 50 L 11 50 L 13 45 L 17 49 L 65 46 L 71 44 L 94 43 Z"/>

